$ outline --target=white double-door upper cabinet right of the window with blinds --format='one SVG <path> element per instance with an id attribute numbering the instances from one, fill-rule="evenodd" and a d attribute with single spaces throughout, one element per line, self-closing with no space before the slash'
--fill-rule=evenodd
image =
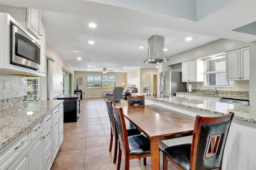
<path id="1" fill-rule="evenodd" d="M 249 47 L 226 52 L 226 79 L 249 80 Z"/>

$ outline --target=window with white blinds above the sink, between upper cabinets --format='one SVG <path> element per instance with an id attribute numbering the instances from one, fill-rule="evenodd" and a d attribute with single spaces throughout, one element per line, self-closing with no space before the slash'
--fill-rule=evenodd
<path id="1" fill-rule="evenodd" d="M 204 59 L 205 87 L 234 87 L 234 81 L 226 80 L 226 56 Z"/>

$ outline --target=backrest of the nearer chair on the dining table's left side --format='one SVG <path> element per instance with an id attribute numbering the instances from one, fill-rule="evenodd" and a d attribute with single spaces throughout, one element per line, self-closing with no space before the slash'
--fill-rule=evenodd
<path id="1" fill-rule="evenodd" d="M 116 125 L 116 132 L 118 135 L 118 140 L 120 143 L 120 149 L 124 152 L 126 156 L 129 155 L 129 143 L 128 134 L 126 130 L 126 125 L 124 121 L 124 113 L 122 107 L 116 107 L 112 104 L 114 121 Z"/>

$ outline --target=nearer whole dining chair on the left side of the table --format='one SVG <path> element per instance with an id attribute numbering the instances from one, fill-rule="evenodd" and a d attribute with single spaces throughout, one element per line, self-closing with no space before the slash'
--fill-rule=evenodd
<path id="1" fill-rule="evenodd" d="M 146 157 L 150 156 L 150 139 L 145 134 L 128 136 L 122 107 L 116 107 L 114 104 L 112 107 L 119 141 L 117 170 L 120 170 L 122 152 L 125 159 L 125 170 L 129 170 L 130 159 L 143 158 L 143 164 L 146 166 Z"/>

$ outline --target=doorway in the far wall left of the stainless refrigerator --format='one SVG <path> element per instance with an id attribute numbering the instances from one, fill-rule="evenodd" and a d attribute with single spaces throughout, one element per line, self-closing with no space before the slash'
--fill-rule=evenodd
<path id="1" fill-rule="evenodd" d="M 142 74 L 143 93 L 157 93 L 157 75 L 150 73 Z"/>

